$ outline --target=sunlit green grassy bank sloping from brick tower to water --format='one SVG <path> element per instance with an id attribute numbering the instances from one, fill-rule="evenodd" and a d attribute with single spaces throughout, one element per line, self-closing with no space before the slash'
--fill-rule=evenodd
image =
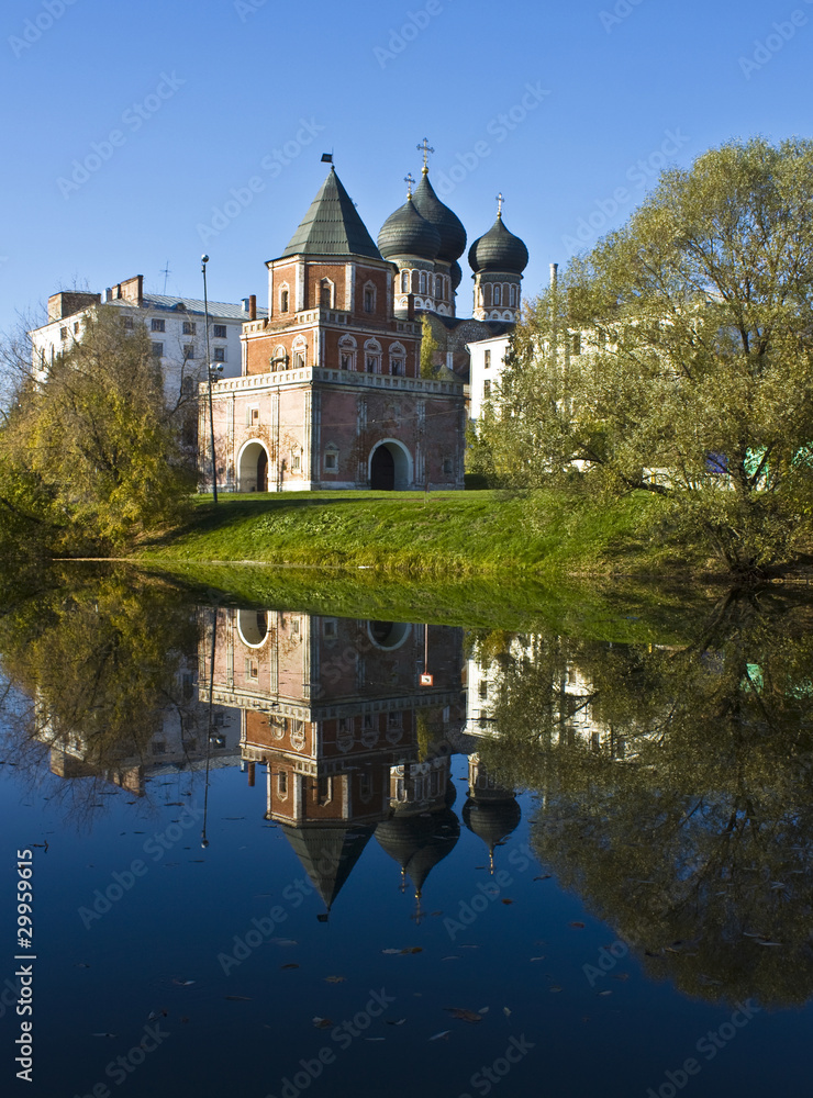
<path id="1" fill-rule="evenodd" d="M 597 503 L 549 492 L 314 492 L 196 501 L 180 528 L 140 548 L 143 561 L 372 568 L 536 575 L 686 571 L 665 544 L 665 505 Z"/>

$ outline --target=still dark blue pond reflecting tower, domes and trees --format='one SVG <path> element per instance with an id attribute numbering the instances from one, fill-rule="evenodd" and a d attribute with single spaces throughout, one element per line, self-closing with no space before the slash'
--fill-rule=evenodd
<path id="1" fill-rule="evenodd" d="M 806 1089 L 804 590 L 324 609 L 126 572 L 7 605 L 3 1094 Z"/>

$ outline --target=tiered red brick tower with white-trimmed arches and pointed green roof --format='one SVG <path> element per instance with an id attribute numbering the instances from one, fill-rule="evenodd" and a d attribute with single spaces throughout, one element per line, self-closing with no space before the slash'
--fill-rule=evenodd
<path id="1" fill-rule="evenodd" d="M 461 489 L 463 379 L 420 377 L 414 302 L 397 314 L 399 268 L 333 168 L 266 267 L 268 316 L 244 325 L 242 377 L 214 385 L 219 489 Z M 211 490 L 204 401 L 199 438 Z"/>

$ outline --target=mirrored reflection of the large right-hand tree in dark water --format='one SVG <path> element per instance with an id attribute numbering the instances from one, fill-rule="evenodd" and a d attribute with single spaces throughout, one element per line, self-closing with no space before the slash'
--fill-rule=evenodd
<path id="1" fill-rule="evenodd" d="M 680 650 L 534 638 L 503 658 L 483 759 L 542 794 L 534 842 L 563 884 L 691 994 L 813 993 L 811 614 L 730 594 Z"/>

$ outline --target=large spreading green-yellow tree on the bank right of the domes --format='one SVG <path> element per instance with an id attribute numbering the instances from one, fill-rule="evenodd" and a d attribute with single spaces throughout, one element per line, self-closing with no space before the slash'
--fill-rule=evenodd
<path id="1" fill-rule="evenodd" d="M 734 573 L 813 515 L 813 142 L 666 171 L 512 339 L 481 429 L 503 481 L 657 493 Z"/>

